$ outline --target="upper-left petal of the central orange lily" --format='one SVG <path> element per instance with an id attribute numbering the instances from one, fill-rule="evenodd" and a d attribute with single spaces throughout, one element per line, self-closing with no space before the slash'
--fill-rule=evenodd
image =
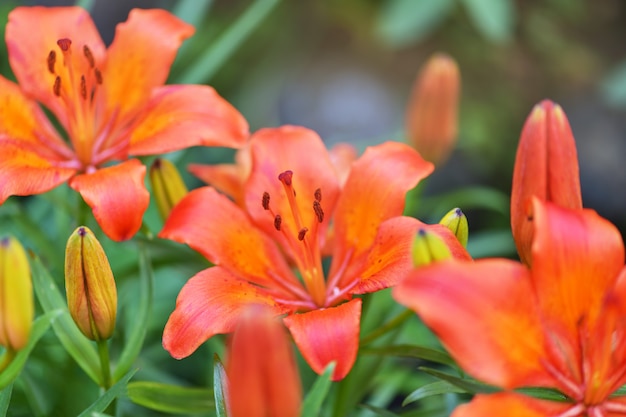
<path id="1" fill-rule="evenodd" d="M 300 285 L 274 242 L 211 187 L 187 194 L 172 210 L 159 237 L 186 243 L 211 262 L 259 285 L 275 288 L 276 278 Z"/>

